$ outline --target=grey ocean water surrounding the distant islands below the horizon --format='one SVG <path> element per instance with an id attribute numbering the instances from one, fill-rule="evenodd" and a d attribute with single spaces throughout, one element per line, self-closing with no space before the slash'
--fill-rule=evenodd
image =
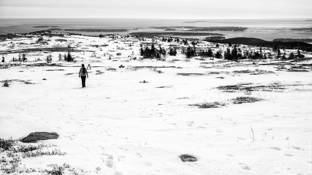
<path id="1" fill-rule="evenodd" d="M 161 29 L 149 27 L 163 26 L 236 26 L 247 27 L 246 31 L 208 31 L 209 33 L 221 33 L 226 38 L 255 37 L 264 40 L 275 38 L 312 38 L 312 32 L 292 31 L 290 28 L 312 27 L 309 19 L 126 19 L 126 18 L 0 18 L 0 35 L 8 33 L 29 33 L 45 30 L 45 28 L 33 28 L 34 26 L 60 26 L 63 29 L 133 29 L 139 30 L 118 32 L 119 35 L 127 35 L 131 32 L 159 32 Z M 206 21 L 185 23 L 191 21 Z M 78 33 L 78 32 L 75 32 Z M 85 35 L 109 34 L 105 32 L 79 32 Z M 205 38 L 207 36 L 183 36 L 186 38 Z"/>

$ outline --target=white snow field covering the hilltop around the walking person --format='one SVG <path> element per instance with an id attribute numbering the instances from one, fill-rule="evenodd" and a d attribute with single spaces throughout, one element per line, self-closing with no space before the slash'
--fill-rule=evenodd
<path id="1" fill-rule="evenodd" d="M 151 42 L 149 38 L 139 41 L 120 36 L 118 39 L 43 36 L 44 41 L 51 41 L 45 45 L 30 44 L 39 37 L 41 35 L 0 42 L 2 53 L 12 51 L 4 54 L 6 62 L 0 67 L 1 85 L 12 80 L 8 81 L 9 87 L 0 87 L 0 138 L 56 132 L 59 134 L 56 140 L 38 143 L 53 144 L 42 148 L 44 151 L 57 149 L 66 154 L 20 156 L 18 167 L 11 174 L 48 174 L 45 170 L 63 164 L 68 166 L 62 174 L 79 175 L 312 174 L 311 59 L 231 62 L 194 57 L 187 62 L 179 50 L 177 56 L 167 55 L 166 61 L 140 60 L 139 45 Z M 170 43 L 160 42 L 159 38 L 156 41 L 169 48 Z M 128 46 L 130 43 L 133 46 Z M 12 44 L 14 47 L 10 48 Z M 58 54 L 67 52 L 45 49 L 27 53 L 28 62 L 21 65 L 9 62 L 13 56 L 18 58 L 14 50 L 68 44 L 75 50 L 84 50 L 71 52 L 77 62 L 58 61 Z M 108 46 L 91 46 L 104 44 Z M 212 46 L 214 52 L 227 47 L 221 44 L 217 48 L 214 43 L 204 41 L 198 44 L 204 49 Z M 259 50 L 259 47 L 244 47 Z M 270 52 L 268 48 L 263 50 Z M 92 52 L 98 58 L 91 57 Z M 120 56 L 116 55 L 118 52 Z M 104 53 L 112 54 L 111 59 Z M 59 66 L 38 66 L 37 63 L 45 61 L 32 62 L 37 58 L 43 60 L 49 54 L 53 59 L 51 64 Z M 311 57 L 310 54 L 305 56 Z M 173 59 L 180 61 L 168 61 Z M 214 64 L 201 64 L 203 62 Z M 275 65 L 261 65 L 270 63 Z M 81 64 L 91 65 L 85 88 L 78 77 Z M 121 64 L 125 68 L 119 68 Z M 277 70 L 280 65 L 285 69 Z M 300 65 L 306 69 L 292 68 Z M 151 67 L 135 70 L 135 66 Z M 167 68 L 154 69 L 162 66 Z M 287 69 L 307 72 L 288 72 Z M 103 73 L 96 74 L 98 72 Z M 149 83 L 139 83 L 144 80 Z M 254 91 L 216 88 L 237 84 Z M 232 98 L 239 96 L 264 100 L 235 104 Z M 217 105 L 218 108 L 190 106 L 202 102 L 226 104 Z M 20 141 L 17 144 L 38 145 Z M 181 154 L 193 155 L 197 161 L 182 162 Z M 2 151 L 1 158 L 12 160 L 8 151 Z M 4 164 L 1 163 L 0 174 L 6 174 Z M 6 167 L 10 168 L 11 164 L 8 162 Z M 26 172 L 27 169 L 30 172 Z"/>

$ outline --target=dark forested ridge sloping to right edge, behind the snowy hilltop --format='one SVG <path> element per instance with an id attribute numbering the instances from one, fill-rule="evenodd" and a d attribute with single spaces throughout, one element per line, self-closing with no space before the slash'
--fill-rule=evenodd
<path id="1" fill-rule="evenodd" d="M 312 45 L 304 42 L 282 42 L 282 41 L 266 41 L 258 38 L 229 38 L 224 40 L 215 40 L 217 43 L 223 44 L 243 44 L 243 45 L 254 45 L 258 47 L 270 47 L 274 51 L 277 49 L 299 49 L 307 52 L 312 51 Z"/>

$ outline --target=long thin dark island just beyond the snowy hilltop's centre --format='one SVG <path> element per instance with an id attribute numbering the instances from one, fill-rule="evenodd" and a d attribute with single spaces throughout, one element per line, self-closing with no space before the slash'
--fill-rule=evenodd
<path id="1" fill-rule="evenodd" d="M 176 36 L 205 36 L 205 35 L 219 35 L 223 36 L 223 34 L 220 33 L 198 33 L 198 32 L 133 32 L 129 33 L 129 35 L 176 35 Z"/>

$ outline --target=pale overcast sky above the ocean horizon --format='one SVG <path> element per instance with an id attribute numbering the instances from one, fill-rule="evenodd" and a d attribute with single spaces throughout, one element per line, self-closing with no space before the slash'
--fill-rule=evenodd
<path id="1" fill-rule="evenodd" d="M 312 0 L 0 0 L 2 18 L 312 18 Z"/>

